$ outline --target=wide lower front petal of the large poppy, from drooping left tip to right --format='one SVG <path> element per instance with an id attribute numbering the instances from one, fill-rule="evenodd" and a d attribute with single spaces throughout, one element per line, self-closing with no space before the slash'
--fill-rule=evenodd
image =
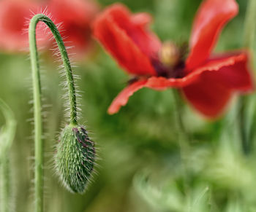
<path id="1" fill-rule="evenodd" d="M 184 78 L 167 79 L 162 76 L 151 76 L 141 79 L 126 87 L 111 103 L 109 114 L 116 113 L 133 93 L 143 87 L 154 90 L 165 90 L 169 87 L 181 88 L 192 105 L 208 117 L 217 117 L 227 104 L 233 91 L 252 90 L 246 53 L 222 55 L 211 58 L 200 68 Z"/>

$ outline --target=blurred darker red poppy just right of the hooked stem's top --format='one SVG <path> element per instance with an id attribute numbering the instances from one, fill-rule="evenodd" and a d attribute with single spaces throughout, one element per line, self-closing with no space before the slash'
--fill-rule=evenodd
<path id="1" fill-rule="evenodd" d="M 72 45 L 69 52 L 83 56 L 91 47 L 91 21 L 99 11 L 92 0 L 50 0 L 48 11 L 56 23 L 61 23 L 61 36 Z"/>

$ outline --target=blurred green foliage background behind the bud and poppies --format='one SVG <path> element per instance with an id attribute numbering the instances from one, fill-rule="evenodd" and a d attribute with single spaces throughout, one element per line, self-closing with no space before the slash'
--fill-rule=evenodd
<path id="1" fill-rule="evenodd" d="M 101 0 L 102 5 L 113 0 Z M 150 12 L 153 29 L 165 40 L 188 41 L 200 0 L 125 0 L 132 12 Z M 241 47 L 247 1 L 227 24 L 216 51 Z M 1 39 L 1 38 L 0 38 Z M 61 186 L 53 157 L 64 126 L 63 90 L 59 63 L 48 53 L 42 58 L 45 104 L 45 211 L 256 211 L 255 152 L 244 156 L 238 135 L 237 98 L 225 117 L 209 122 L 184 105 L 184 122 L 191 143 L 184 146 L 178 130 L 171 90 L 143 89 L 118 114 L 108 106 L 129 76 L 97 46 L 90 58 L 78 63 L 75 74 L 82 92 L 80 122 L 98 148 L 97 173 L 84 195 Z M 31 68 L 29 55 L 0 54 L 0 98 L 18 121 L 10 158 L 15 208 L 33 211 L 34 143 L 31 124 Z M 249 98 L 248 122 L 255 97 Z M 4 118 L 0 115 L 1 125 Z"/>

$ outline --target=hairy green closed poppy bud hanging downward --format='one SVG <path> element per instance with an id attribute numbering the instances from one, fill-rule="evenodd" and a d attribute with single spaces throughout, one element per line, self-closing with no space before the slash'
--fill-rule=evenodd
<path id="1" fill-rule="evenodd" d="M 94 170 L 95 149 L 85 127 L 67 125 L 57 146 L 56 168 L 71 192 L 83 193 Z"/>

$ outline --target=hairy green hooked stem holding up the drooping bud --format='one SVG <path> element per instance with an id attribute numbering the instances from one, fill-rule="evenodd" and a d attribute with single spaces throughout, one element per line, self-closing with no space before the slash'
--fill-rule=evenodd
<path id="1" fill-rule="evenodd" d="M 66 72 L 69 103 L 70 103 L 70 124 L 77 124 L 77 106 L 75 96 L 75 85 L 72 76 L 67 50 L 61 39 L 58 28 L 46 15 L 38 14 L 31 18 L 29 24 L 29 50 L 31 57 L 32 79 L 33 79 L 33 98 L 34 98 L 34 143 L 35 143 L 35 203 L 37 212 L 43 211 L 43 143 L 42 143 L 42 105 L 41 105 L 41 83 L 39 74 L 39 60 L 37 52 L 36 27 L 39 21 L 44 22 L 53 33 L 56 43 L 61 53 Z"/>

